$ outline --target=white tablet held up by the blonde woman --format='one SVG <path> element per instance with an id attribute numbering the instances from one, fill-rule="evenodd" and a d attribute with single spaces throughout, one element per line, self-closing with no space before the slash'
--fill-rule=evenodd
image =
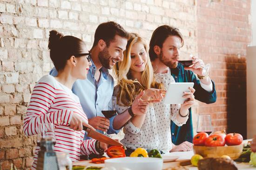
<path id="1" fill-rule="evenodd" d="M 170 83 L 163 99 L 164 104 L 183 104 L 186 98 L 182 98 L 183 92 L 190 92 L 189 87 L 194 83 Z"/>

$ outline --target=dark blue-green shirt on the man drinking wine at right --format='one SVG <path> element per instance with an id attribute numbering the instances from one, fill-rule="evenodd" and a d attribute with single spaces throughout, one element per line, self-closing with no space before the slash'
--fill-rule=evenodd
<path id="1" fill-rule="evenodd" d="M 171 75 L 175 79 L 175 82 L 194 82 L 195 89 L 195 99 L 206 104 L 211 104 L 216 102 L 216 90 L 215 84 L 212 81 L 213 90 L 212 92 L 207 92 L 200 85 L 199 79 L 191 71 L 184 70 L 184 66 L 178 63 L 176 68 L 171 68 Z M 175 145 L 181 144 L 184 141 L 193 142 L 193 124 L 192 124 L 192 112 L 189 108 L 189 119 L 186 124 L 182 126 L 177 126 L 171 121 L 171 132 L 172 132 L 172 142 Z"/>

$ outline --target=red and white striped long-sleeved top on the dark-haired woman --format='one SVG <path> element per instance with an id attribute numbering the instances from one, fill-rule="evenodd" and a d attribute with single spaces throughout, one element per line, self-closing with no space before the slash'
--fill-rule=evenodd
<path id="1" fill-rule="evenodd" d="M 79 114 L 88 123 L 79 98 L 71 89 L 62 85 L 51 75 L 43 76 L 32 92 L 23 131 L 27 136 L 36 135 L 38 124 L 54 123 L 55 151 L 68 153 L 73 162 L 79 161 L 80 155 L 99 154 L 95 149 L 95 139 L 84 141 L 85 131 L 74 131 L 67 126 L 73 114 Z M 37 146 L 32 169 L 36 169 L 39 150 L 40 147 Z"/>

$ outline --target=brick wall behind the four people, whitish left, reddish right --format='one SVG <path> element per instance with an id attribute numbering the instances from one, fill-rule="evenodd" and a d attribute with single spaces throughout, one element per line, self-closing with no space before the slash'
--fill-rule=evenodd
<path id="1" fill-rule="evenodd" d="M 108 20 L 141 34 L 148 41 L 157 26 L 177 26 L 185 39 L 182 50 L 199 54 L 206 63 L 212 63 L 211 77 L 216 81 L 217 102 L 196 104 L 195 126 L 197 114 L 211 114 L 216 130 L 227 128 L 229 116 L 232 119 L 234 115 L 239 118 L 245 115 L 245 49 L 250 42 L 250 1 L 211 1 L 1 0 L 2 170 L 10 169 L 11 163 L 18 169 L 27 169 L 33 162 L 35 137 L 23 134 L 22 122 L 35 82 L 53 66 L 47 50 L 48 33 L 52 29 L 81 38 L 90 48 L 96 27 Z"/>

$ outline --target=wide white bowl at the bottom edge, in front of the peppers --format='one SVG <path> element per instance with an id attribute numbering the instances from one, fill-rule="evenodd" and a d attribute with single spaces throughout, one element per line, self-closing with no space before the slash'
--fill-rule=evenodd
<path id="1" fill-rule="evenodd" d="M 162 170 L 163 160 L 155 157 L 118 157 L 105 160 L 105 167 L 131 170 Z"/>

